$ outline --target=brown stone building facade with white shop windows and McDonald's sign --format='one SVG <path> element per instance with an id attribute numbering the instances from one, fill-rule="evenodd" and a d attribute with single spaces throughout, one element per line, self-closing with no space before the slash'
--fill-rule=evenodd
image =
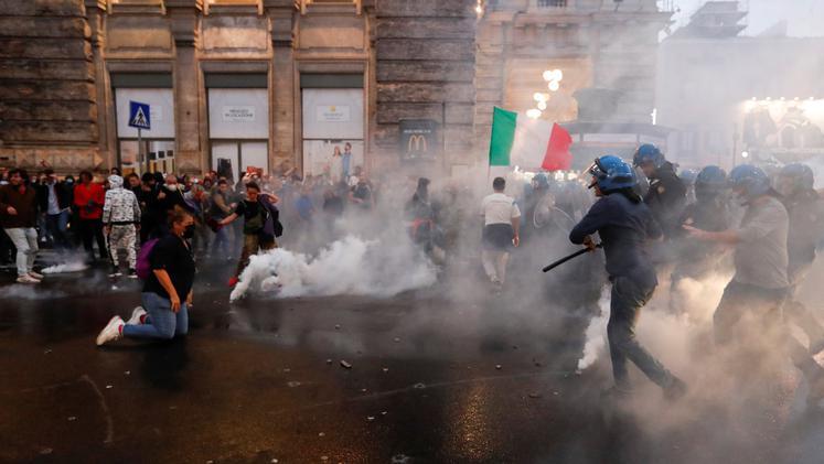
<path id="1" fill-rule="evenodd" d="M 655 0 L 0 0 L 0 165 L 450 173 L 485 161 L 492 108 L 649 120 Z M 554 91 L 542 73 L 563 71 Z M 130 102 L 151 128 L 129 126 Z M 542 105 L 543 106 L 543 105 Z M 138 137 L 139 136 L 139 137 Z"/>

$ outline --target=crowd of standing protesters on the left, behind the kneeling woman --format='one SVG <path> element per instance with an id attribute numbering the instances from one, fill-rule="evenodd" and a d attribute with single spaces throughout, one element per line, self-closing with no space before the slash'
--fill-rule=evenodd
<path id="1" fill-rule="evenodd" d="M 58 177 L 52 169 L 31 176 L 2 170 L 0 263 L 17 263 L 18 282 L 38 283 L 43 274 L 33 263 L 41 247 L 56 250 L 58 260 L 76 259 L 83 250 L 85 263 L 109 266 L 110 277 L 137 278 L 141 246 L 167 235 L 169 219 L 184 211 L 195 222 L 193 253 L 240 257 L 234 284 L 249 255 L 277 246 L 281 211 L 297 227 L 320 216 L 333 220 L 346 208 L 371 209 L 376 190 L 360 166 L 336 183 L 329 176 L 302 179 L 293 170 L 267 175 L 249 169 L 238 182 L 214 171 L 200 177 L 157 172 L 124 177 L 113 169 L 107 175 L 83 171 Z M 238 217 L 244 220 L 233 224 Z"/>

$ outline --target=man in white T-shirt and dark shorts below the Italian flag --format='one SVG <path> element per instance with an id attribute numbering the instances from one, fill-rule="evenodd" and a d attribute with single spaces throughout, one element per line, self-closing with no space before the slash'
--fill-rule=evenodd
<path id="1" fill-rule="evenodd" d="M 506 278 L 510 247 L 517 247 L 520 242 L 521 211 L 514 198 L 504 195 L 506 181 L 503 177 L 495 177 L 492 188 L 495 193 L 481 203 L 484 220 L 481 260 L 492 285 L 500 291 Z"/>

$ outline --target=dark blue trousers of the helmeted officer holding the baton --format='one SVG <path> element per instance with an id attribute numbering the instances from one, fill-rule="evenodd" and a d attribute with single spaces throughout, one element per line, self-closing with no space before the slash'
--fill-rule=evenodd
<path id="1" fill-rule="evenodd" d="M 644 349 L 635 337 L 635 324 L 641 307 L 650 301 L 654 291 L 654 284 L 643 284 L 629 277 L 612 279 L 607 335 L 612 358 L 612 376 L 616 379 L 616 386 L 623 390 L 631 388 L 627 370 L 628 359 L 662 388 L 668 387 L 673 381 L 672 374 Z"/>

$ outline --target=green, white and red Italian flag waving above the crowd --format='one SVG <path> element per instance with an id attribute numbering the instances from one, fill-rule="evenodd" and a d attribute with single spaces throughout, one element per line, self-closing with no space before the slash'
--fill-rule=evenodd
<path id="1" fill-rule="evenodd" d="M 514 111 L 494 108 L 490 166 L 541 166 L 545 171 L 566 171 L 572 164 L 569 145 L 572 138 L 557 123 L 527 118 Z"/>

